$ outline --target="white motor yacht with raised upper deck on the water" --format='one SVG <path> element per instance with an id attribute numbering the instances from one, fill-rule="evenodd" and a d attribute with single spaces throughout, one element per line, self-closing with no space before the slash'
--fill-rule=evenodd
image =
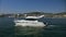
<path id="1" fill-rule="evenodd" d="M 37 20 L 43 17 L 44 15 L 41 16 L 26 16 L 24 20 L 14 20 L 15 26 L 40 26 L 44 27 L 46 26 L 43 22 L 38 22 Z"/>

